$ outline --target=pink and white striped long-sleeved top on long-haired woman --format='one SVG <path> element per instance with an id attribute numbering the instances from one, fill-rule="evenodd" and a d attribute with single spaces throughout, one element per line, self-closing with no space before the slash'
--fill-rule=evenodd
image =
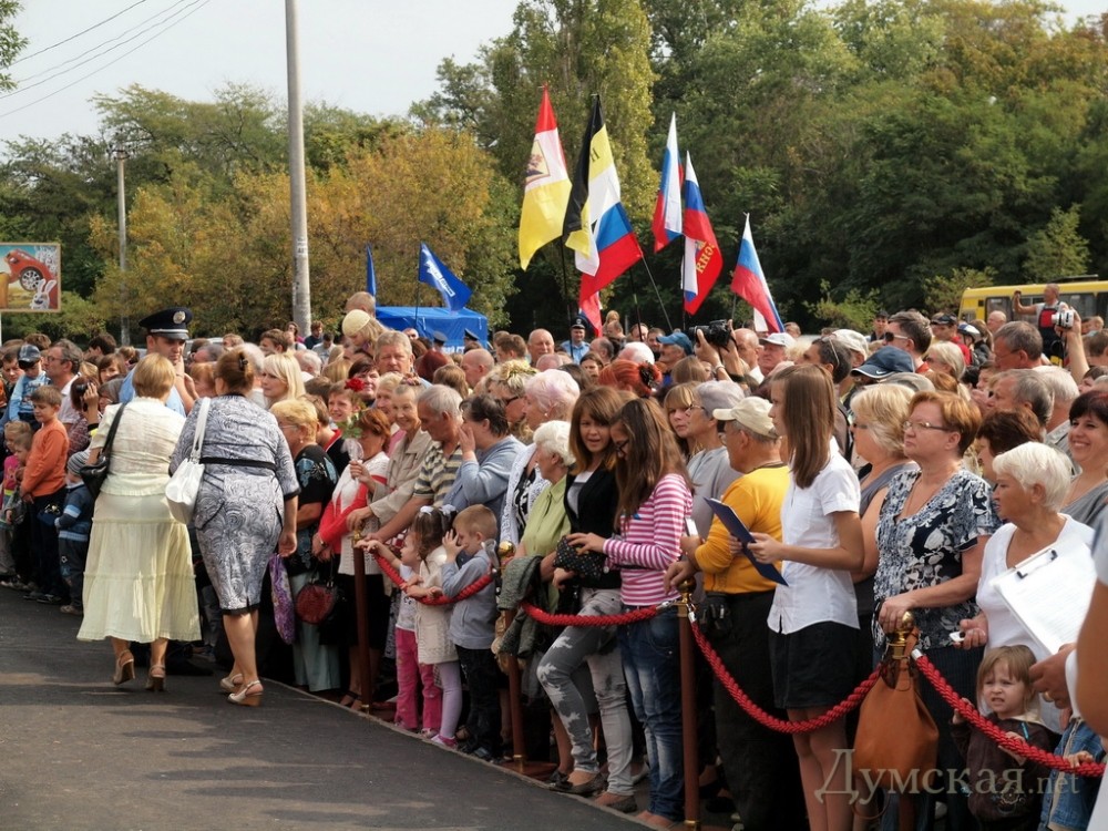
<path id="1" fill-rule="evenodd" d="M 627 606 L 655 606 L 678 597 L 663 578 L 680 556 L 678 543 L 685 517 L 693 513 L 693 493 L 685 478 L 663 476 L 638 511 L 623 522 L 623 533 L 604 542 L 608 565 L 619 568 L 619 596 Z"/>

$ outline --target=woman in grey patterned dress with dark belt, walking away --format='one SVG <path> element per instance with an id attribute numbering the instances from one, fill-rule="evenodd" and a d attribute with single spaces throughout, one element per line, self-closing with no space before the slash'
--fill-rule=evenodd
<path id="1" fill-rule="evenodd" d="M 257 706 L 264 691 L 254 645 L 261 583 L 275 547 L 281 556 L 296 551 L 300 488 L 277 420 L 248 398 L 254 368 L 242 349 L 219 358 L 215 389 L 201 450 L 205 469 L 193 524 L 235 656 L 230 674 L 219 685 L 230 693 L 232 704 Z M 193 408 L 185 422 L 171 473 L 192 450 L 199 412 L 199 407 Z"/>

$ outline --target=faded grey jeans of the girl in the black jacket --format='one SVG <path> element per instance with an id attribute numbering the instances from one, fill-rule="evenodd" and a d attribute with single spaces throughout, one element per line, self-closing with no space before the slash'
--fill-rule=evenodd
<path id="1" fill-rule="evenodd" d="M 619 614 L 618 588 L 583 588 L 578 615 Z M 630 781 L 632 735 L 623 659 L 612 626 L 567 626 L 538 664 L 538 681 L 573 742 L 573 768 L 599 771 L 584 699 L 573 683 L 574 670 L 588 664 L 608 751 L 608 790 L 620 797 L 635 792 Z"/>

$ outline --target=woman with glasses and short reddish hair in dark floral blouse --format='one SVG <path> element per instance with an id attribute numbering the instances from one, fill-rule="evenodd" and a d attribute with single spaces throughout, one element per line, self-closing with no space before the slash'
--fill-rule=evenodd
<path id="1" fill-rule="evenodd" d="M 981 427 L 977 409 L 950 392 L 919 392 L 904 422 L 904 453 L 916 470 L 889 484 L 878 520 L 878 572 L 874 579 L 874 644 L 884 652 L 885 636 L 912 613 L 920 648 L 960 695 L 973 699 L 981 649 L 958 650 L 950 634 L 977 614 L 974 595 L 985 544 L 999 526 L 992 490 L 963 465 L 963 455 Z M 951 738 L 950 706 L 927 685 L 924 704 L 938 726 L 938 769 L 962 770 Z M 936 791 L 938 792 L 938 791 Z M 947 828 L 974 828 L 965 796 L 944 788 Z M 905 812 L 923 811 L 933 821 L 931 793 L 903 796 Z M 893 814 L 895 815 L 895 814 Z M 930 827 L 930 825 L 929 825 Z"/>

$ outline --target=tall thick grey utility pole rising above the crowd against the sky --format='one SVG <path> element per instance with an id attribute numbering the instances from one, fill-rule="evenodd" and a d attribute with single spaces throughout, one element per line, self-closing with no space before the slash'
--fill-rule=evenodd
<path id="1" fill-rule="evenodd" d="M 285 49 L 288 61 L 288 178 L 293 217 L 293 320 L 311 329 L 311 279 L 308 274 L 308 206 L 304 173 L 304 107 L 300 58 L 296 39 L 296 0 L 285 0 Z"/>

